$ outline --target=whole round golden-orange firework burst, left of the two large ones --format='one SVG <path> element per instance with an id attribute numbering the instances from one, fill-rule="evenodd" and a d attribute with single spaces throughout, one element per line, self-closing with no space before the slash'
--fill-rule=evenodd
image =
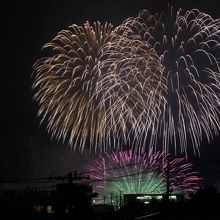
<path id="1" fill-rule="evenodd" d="M 57 139 L 83 151 L 130 142 L 157 117 L 163 90 L 158 56 L 137 36 L 88 22 L 61 31 L 34 65 L 39 116 Z"/>

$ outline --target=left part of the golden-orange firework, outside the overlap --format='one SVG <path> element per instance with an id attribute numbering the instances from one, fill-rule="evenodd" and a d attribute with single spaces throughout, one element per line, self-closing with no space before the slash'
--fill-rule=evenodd
<path id="1" fill-rule="evenodd" d="M 111 24 L 88 22 L 61 31 L 44 48 L 52 53 L 34 65 L 35 99 L 40 105 L 41 121 L 57 139 L 68 139 L 71 146 L 83 150 L 88 138 L 98 142 L 102 135 L 103 105 L 97 108 L 95 91 L 101 62 L 99 50 L 113 36 Z"/>

